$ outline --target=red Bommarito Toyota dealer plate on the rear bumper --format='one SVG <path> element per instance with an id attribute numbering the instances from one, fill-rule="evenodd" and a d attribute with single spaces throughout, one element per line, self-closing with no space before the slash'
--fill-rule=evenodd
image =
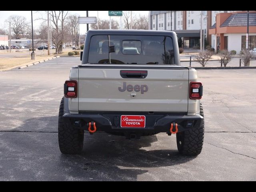
<path id="1" fill-rule="evenodd" d="M 146 117 L 143 115 L 122 115 L 121 127 L 145 127 Z"/>

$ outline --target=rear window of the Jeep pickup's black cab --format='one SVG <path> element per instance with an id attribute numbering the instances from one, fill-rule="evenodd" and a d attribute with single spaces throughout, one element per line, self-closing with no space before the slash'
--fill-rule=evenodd
<path id="1" fill-rule="evenodd" d="M 94 35 L 88 63 L 93 64 L 174 64 L 169 36 Z"/>

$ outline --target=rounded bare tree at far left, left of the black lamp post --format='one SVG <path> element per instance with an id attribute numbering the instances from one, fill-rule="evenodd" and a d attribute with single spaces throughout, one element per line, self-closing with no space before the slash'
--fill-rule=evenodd
<path id="1" fill-rule="evenodd" d="M 11 23 L 11 29 L 15 39 L 28 36 L 28 22 L 24 16 L 11 15 L 6 22 Z"/>

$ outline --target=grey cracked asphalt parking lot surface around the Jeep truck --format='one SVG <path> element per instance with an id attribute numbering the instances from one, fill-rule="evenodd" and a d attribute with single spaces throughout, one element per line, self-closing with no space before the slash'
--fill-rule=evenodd
<path id="1" fill-rule="evenodd" d="M 63 83 L 79 58 L 0 72 L 0 180 L 256 180 L 256 69 L 198 70 L 205 139 L 197 157 L 175 136 L 85 134 L 80 155 L 58 148 Z"/>

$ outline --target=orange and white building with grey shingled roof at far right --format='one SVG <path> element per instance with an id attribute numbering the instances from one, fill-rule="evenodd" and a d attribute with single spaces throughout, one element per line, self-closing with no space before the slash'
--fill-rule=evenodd
<path id="1" fill-rule="evenodd" d="M 212 47 L 218 51 L 235 50 L 239 54 L 246 48 L 247 12 L 218 13 L 216 22 L 209 30 L 212 35 Z M 256 11 L 249 12 L 248 48 L 256 47 Z"/>

